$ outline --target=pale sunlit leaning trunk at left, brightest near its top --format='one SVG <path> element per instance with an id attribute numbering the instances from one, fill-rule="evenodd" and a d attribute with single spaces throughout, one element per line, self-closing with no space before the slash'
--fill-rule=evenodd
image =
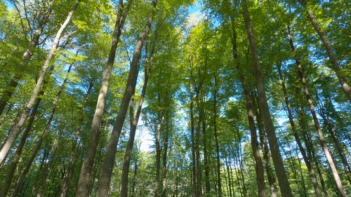
<path id="1" fill-rule="evenodd" d="M 29 98 L 29 101 L 25 105 L 24 109 L 22 109 L 22 114 L 20 115 L 20 119 L 15 123 L 15 127 L 13 128 L 13 131 L 11 132 L 8 139 L 6 139 L 4 147 L 1 148 L 0 163 L 2 163 L 4 161 L 4 159 L 6 158 L 8 151 L 11 149 L 13 142 L 15 142 L 15 139 L 20 134 L 20 130 L 21 130 L 22 126 L 25 124 L 25 121 L 27 120 L 27 116 L 29 114 L 28 112 L 33 107 L 33 104 L 34 104 L 34 102 L 35 102 L 35 100 L 36 100 L 36 98 L 41 90 L 41 86 L 44 83 L 45 74 L 48 71 L 49 67 L 53 67 L 53 65 L 50 65 L 50 62 L 53 59 L 53 55 L 55 53 L 56 48 L 58 47 L 58 41 L 60 41 L 61 34 L 65 30 L 65 28 L 67 27 L 69 21 L 72 19 L 73 13 L 76 10 L 76 8 L 78 7 L 78 5 L 79 5 L 79 1 L 77 1 L 77 4 L 74 5 L 74 8 L 72 9 L 72 11 L 69 12 L 65 22 L 63 22 L 60 29 L 58 29 L 58 32 L 56 33 L 53 44 L 51 45 L 51 49 L 48 52 L 48 57 L 46 57 L 44 67 L 41 68 L 41 72 L 39 73 L 39 77 L 37 79 L 37 83 L 35 84 L 32 95 Z"/>

